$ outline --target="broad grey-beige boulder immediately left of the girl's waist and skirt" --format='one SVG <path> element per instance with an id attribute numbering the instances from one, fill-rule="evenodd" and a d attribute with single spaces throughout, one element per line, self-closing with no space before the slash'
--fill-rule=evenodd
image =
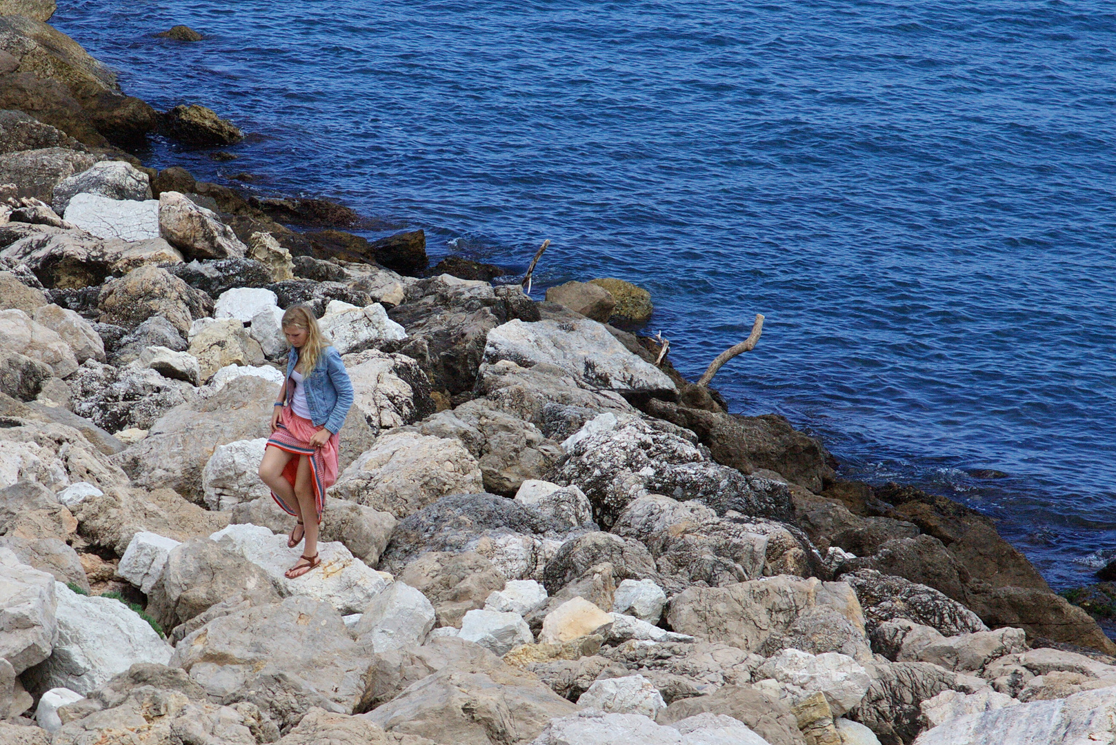
<path id="1" fill-rule="evenodd" d="M 115 456 L 137 486 L 170 487 L 201 502 L 202 470 L 214 449 L 270 434 L 279 386 L 254 375 L 231 381 L 211 398 L 167 411 L 140 442 Z"/>

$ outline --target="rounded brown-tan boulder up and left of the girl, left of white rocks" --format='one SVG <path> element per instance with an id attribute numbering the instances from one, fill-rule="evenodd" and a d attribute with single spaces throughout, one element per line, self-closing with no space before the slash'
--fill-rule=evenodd
<path id="1" fill-rule="evenodd" d="M 190 331 L 195 318 L 213 313 L 213 303 L 165 269 L 144 266 L 121 279 L 105 283 L 97 298 L 102 323 L 113 323 L 134 329 L 152 316 L 160 315 L 180 332 Z"/>

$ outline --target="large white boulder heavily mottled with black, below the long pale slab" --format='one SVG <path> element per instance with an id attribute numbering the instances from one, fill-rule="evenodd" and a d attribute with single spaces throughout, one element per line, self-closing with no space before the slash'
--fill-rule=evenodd
<path id="1" fill-rule="evenodd" d="M 628 504 L 646 494 L 700 499 L 718 514 L 732 509 L 789 519 L 793 506 L 785 485 L 711 462 L 681 436 L 685 430 L 671 427 L 628 414 L 599 414 L 562 443 L 569 457 L 552 480 L 578 485 L 604 527 L 612 527 Z"/>

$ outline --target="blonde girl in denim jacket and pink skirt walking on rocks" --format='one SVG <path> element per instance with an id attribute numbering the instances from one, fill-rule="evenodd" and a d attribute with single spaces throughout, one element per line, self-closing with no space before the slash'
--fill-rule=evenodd
<path id="1" fill-rule="evenodd" d="M 337 432 L 353 405 L 353 383 L 340 354 L 326 345 L 310 308 L 287 308 L 282 331 L 290 344 L 287 380 L 271 414 L 260 479 L 279 506 L 298 518 L 287 545 L 294 548 L 306 538 L 301 558 L 287 570 L 287 579 L 294 580 L 321 563 L 318 526 L 326 489 L 337 480 Z"/>

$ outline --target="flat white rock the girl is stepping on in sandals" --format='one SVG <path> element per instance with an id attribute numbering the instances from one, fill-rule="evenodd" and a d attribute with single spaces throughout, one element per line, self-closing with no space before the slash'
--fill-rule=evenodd
<path id="1" fill-rule="evenodd" d="M 262 569 L 283 596 L 307 595 L 336 608 L 341 614 L 362 613 L 387 586 L 387 580 L 369 569 L 337 542 L 319 542 L 321 564 L 302 576 L 288 580 L 301 548 L 288 548 L 287 536 L 259 525 L 230 525 L 210 536 Z"/>

